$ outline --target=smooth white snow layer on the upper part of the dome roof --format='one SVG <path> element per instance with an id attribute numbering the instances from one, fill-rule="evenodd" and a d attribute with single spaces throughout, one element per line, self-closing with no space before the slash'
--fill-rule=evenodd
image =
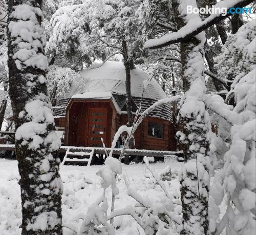
<path id="1" fill-rule="evenodd" d="M 81 74 L 84 78 L 82 89 L 77 90 L 76 87 L 71 87 L 69 95 L 72 98 L 78 93 L 84 93 L 84 98 L 89 98 L 88 96 L 90 94 L 86 93 L 91 93 L 92 96 L 95 96 L 95 93 L 102 92 L 111 92 L 112 94 L 120 95 L 126 94 L 125 69 L 122 62 L 106 61 L 98 68 L 83 70 Z M 131 70 L 131 93 L 133 97 L 141 97 L 143 81 L 148 79 L 150 79 L 150 76 L 141 69 L 136 68 Z M 81 96 L 80 98 L 82 98 Z M 159 100 L 166 98 L 166 95 L 157 81 L 152 78 L 143 97 Z"/>

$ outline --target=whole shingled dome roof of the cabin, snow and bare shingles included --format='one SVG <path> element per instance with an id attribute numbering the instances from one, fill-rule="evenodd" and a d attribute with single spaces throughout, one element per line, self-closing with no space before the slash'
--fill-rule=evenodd
<path id="1" fill-rule="evenodd" d="M 126 113 L 125 69 L 122 62 L 107 61 L 102 66 L 82 71 L 82 88 L 71 86 L 66 99 L 57 101 L 57 106 L 67 105 L 71 99 L 112 99 L 119 114 Z M 150 82 L 146 82 L 150 81 Z M 154 78 L 139 68 L 131 70 L 132 109 L 136 112 L 143 93 L 143 83 L 147 86 L 141 102 L 141 112 L 159 99 L 166 98 L 160 85 Z M 54 115 L 64 115 L 65 109 L 57 109 Z M 153 117 L 172 120 L 172 109 L 169 103 L 158 107 L 150 114 Z"/>

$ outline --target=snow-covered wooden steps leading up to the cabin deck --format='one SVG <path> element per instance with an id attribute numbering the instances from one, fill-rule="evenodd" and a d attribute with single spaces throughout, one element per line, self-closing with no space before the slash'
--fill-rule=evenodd
<path id="1" fill-rule="evenodd" d="M 94 156 L 95 148 L 91 149 L 71 149 L 68 148 L 61 162 L 61 165 L 83 165 L 90 166 Z M 76 151 L 76 152 L 73 152 Z"/>

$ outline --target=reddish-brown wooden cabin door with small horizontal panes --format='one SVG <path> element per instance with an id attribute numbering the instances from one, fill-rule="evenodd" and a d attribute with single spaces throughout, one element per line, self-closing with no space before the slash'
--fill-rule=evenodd
<path id="1" fill-rule="evenodd" d="M 87 146 L 102 147 L 100 138 L 106 142 L 107 108 L 89 108 Z"/>

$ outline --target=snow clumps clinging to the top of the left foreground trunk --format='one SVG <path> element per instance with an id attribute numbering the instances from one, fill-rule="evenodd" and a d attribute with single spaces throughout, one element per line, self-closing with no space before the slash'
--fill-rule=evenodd
<path id="1" fill-rule="evenodd" d="M 10 15 L 11 20 L 8 27 L 11 37 L 16 38 L 14 44 L 18 50 L 13 54 L 13 59 L 15 59 L 17 69 L 23 70 L 31 66 L 46 70 L 48 68 L 47 58 L 40 53 L 46 40 L 43 36 L 43 30 L 36 24 L 37 16 L 42 17 L 40 8 L 21 4 L 15 6 L 14 9 Z"/>

